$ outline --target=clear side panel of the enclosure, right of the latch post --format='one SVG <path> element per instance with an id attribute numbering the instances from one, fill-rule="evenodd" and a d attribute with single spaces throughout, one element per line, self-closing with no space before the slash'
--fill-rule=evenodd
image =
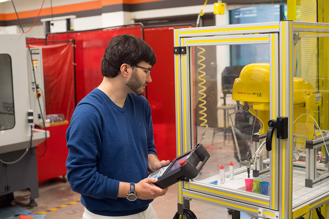
<path id="1" fill-rule="evenodd" d="M 329 190 L 328 42 L 329 37 L 300 37 L 295 43 L 293 207 Z"/>

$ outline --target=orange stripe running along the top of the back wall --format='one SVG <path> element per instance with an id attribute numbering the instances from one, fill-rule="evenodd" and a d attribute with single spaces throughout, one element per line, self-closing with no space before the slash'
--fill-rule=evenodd
<path id="1" fill-rule="evenodd" d="M 158 2 L 164 0 L 96 0 L 89 2 L 82 2 L 70 5 L 62 5 L 53 7 L 53 14 L 63 14 L 70 13 L 76 11 L 87 11 L 93 9 L 101 9 L 102 6 L 107 5 L 117 5 L 117 4 L 139 4 L 139 3 L 147 3 L 147 2 Z M 20 19 L 24 18 L 32 18 L 36 17 L 39 13 L 40 9 L 30 10 L 30 11 L 20 11 L 18 13 L 18 17 Z M 40 12 L 40 16 L 51 15 L 51 8 L 42 8 Z M 16 20 L 16 13 L 4 13 L 0 14 L 0 20 L 8 21 L 8 20 Z"/>

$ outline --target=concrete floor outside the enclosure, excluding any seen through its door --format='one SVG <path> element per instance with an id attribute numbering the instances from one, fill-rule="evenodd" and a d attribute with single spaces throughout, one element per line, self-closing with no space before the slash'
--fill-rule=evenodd
<path id="1" fill-rule="evenodd" d="M 30 201 L 30 192 L 28 190 L 14 192 L 16 205 L 32 211 L 32 214 L 38 214 L 80 200 L 80 195 L 73 192 L 69 183 L 63 182 L 61 177 L 39 182 L 39 197 L 35 199 L 38 206 L 34 208 L 27 207 Z M 170 186 L 168 192 L 152 202 L 154 210 L 158 214 L 158 219 L 172 219 L 177 212 L 177 186 Z M 218 216 L 221 219 L 231 219 L 226 208 L 192 200 L 190 209 L 198 219 L 207 219 Z M 81 217 L 82 217 L 81 212 Z M 47 216 L 45 217 L 47 219 Z M 241 212 L 241 218 L 251 218 L 251 216 Z"/>

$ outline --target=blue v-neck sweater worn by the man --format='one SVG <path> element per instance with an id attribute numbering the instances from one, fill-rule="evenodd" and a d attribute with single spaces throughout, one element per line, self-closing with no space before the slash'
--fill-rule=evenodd
<path id="1" fill-rule="evenodd" d="M 145 179 L 148 154 L 157 155 L 144 97 L 128 94 L 121 108 L 95 88 L 75 108 L 66 141 L 67 179 L 89 211 L 126 216 L 146 210 L 152 200 L 117 198 L 119 182 Z"/>

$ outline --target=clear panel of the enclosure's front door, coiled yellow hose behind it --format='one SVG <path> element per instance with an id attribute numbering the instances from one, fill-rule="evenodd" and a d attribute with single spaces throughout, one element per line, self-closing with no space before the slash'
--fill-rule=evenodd
<path id="1" fill-rule="evenodd" d="M 270 183 L 270 159 L 265 145 L 261 147 L 269 120 L 269 45 L 195 46 L 190 50 L 192 141 L 202 143 L 210 154 L 194 181 L 269 195 L 265 188 Z M 252 160 L 256 151 L 262 156 Z"/>

